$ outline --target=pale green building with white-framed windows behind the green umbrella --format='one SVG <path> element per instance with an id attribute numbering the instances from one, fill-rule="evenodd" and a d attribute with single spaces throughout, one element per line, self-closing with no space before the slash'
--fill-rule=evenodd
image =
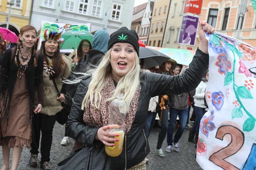
<path id="1" fill-rule="evenodd" d="M 41 21 L 90 23 L 90 32 L 103 29 L 109 33 L 131 27 L 134 0 L 34 0 L 31 25 L 40 29 Z M 107 15 L 108 14 L 108 15 Z"/>

